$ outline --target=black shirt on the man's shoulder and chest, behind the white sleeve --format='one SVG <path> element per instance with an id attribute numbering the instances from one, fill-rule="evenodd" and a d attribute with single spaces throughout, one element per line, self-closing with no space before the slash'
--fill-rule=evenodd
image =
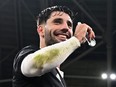
<path id="1" fill-rule="evenodd" d="M 63 78 L 61 78 L 62 82 L 57 79 L 56 74 L 58 74 L 58 71 L 56 68 L 40 77 L 25 77 L 21 73 L 22 60 L 36 50 L 38 48 L 34 46 L 27 46 L 16 55 L 13 64 L 13 87 L 66 87 Z"/>

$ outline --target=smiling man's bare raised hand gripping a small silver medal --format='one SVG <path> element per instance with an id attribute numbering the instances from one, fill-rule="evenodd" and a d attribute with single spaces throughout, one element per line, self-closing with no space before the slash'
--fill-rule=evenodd
<path id="1" fill-rule="evenodd" d="M 84 43 L 86 42 L 86 38 L 88 40 L 94 39 L 95 33 L 89 25 L 79 22 L 76 26 L 74 36 L 80 41 L 80 43 Z"/>

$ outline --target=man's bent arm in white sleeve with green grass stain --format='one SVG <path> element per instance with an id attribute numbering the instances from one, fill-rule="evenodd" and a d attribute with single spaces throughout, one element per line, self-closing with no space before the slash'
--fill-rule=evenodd
<path id="1" fill-rule="evenodd" d="M 42 48 L 24 58 L 21 71 L 27 77 L 41 76 L 62 64 L 78 47 L 80 42 L 76 37 Z"/>

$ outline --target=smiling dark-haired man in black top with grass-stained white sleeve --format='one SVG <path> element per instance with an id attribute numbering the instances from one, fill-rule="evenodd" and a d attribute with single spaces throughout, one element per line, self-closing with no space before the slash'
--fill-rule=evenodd
<path id="1" fill-rule="evenodd" d="M 95 38 L 85 23 L 75 28 L 73 13 L 65 6 L 41 11 L 37 20 L 40 47 L 24 47 L 14 59 L 13 87 L 66 87 L 60 65 L 88 39 Z"/>

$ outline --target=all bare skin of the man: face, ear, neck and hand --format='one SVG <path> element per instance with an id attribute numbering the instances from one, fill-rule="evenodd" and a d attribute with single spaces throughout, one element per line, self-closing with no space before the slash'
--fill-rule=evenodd
<path id="1" fill-rule="evenodd" d="M 40 36 L 40 47 L 43 48 L 69 39 L 73 36 L 72 30 L 73 22 L 68 14 L 59 11 L 53 12 L 47 22 L 39 25 L 37 28 Z M 60 33 L 56 34 L 55 32 Z M 87 32 L 89 40 L 95 38 L 92 28 L 82 23 L 76 26 L 74 36 L 80 43 L 83 43 L 86 42 L 85 36 Z"/>

